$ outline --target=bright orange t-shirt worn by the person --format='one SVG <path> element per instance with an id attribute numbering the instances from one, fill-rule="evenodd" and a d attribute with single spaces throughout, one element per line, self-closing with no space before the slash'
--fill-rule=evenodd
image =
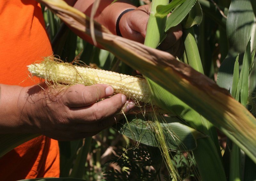
<path id="1" fill-rule="evenodd" d="M 39 3 L 0 0 L 0 24 L 0 83 L 35 84 L 27 65 L 52 54 Z M 0 180 L 59 177 L 59 161 L 58 141 L 39 136 L 0 158 Z"/>

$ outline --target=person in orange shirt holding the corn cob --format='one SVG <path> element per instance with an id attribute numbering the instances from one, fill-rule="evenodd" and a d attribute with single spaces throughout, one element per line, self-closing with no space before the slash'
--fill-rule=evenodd
<path id="1" fill-rule="evenodd" d="M 90 15 L 94 0 L 66 2 Z M 95 20 L 114 34 L 143 43 L 149 6 L 137 8 L 122 0 L 111 3 L 100 2 Z M 96 103 L 113 94 L 111 86 L 99 84 L 74 85 L 56 96 L 54 90 L 42 84 L 43 90 L 28 79 L 26 66 L 52 55 L 41 7 L 35 0 L 1 0 L 0 22 L 0 134 L 42 134 L 0 158 L 0 180 L 59 177 L 56 140 L 85 138 L 113 125 L 121 118 L 115 113 L 127 103 L 126 97 L 116 94 Z M 180 45 L 181 35 L 180 26 L 172 29 L 168 47 Z M 80 36 L 92 42 L 90 37 Z M 124 112 L 133 106 L 125 107 Z"/>

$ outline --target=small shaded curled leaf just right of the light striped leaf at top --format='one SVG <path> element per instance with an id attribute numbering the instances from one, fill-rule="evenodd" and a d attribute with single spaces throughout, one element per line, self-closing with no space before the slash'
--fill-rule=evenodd
<path id="1" fill-rule="evenodd" d="M 191 11 L 188 13 L 188 18 L 186 23 L 184 23 L 183 28 L 190 28 L 194 25 L 199 25 L 203 18 L 203 12 L 200 4 L 196 1 L 196 4 L 193 6 Z"/>

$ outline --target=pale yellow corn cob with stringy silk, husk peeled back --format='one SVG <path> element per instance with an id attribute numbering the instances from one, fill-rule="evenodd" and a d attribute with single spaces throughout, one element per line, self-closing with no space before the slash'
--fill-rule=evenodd
<path id="1" fill-rule="evenodd" d="M 103 83 L 111 85 L 115 93 L 123 93 L 127 98 L 150 103 L 148 83 L 144 78 L 128 76 L 116 72 L 74 66 L 70 63 L 57 62 L 53 58 L 45 58 L 40 64 L 31 64 L 28 71 L 32 76 L 53 83 L 93 85 Z"/>

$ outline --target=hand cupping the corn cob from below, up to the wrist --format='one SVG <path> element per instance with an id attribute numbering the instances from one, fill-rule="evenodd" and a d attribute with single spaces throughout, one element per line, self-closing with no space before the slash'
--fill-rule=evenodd
<path id="1" fill-rule="evenodd" d="M 64 91 L 33 86 L 27 90 L 23 114 L 29 119 L 26 132 L 44 134 L 56 140 L 74 140 L 93 136 L 119 121 L 125 103 L 123 94 L 110 98 L 114 90 L 105 84 L 76 84 Z M 102 98 L 106 98 L 96 102 Z M 23 101 L 22 101 L 23 102 Z M 129 102 L 130 103 L 130 102 Z M 124 113 L 134 105 L 123 107 Z"/>

